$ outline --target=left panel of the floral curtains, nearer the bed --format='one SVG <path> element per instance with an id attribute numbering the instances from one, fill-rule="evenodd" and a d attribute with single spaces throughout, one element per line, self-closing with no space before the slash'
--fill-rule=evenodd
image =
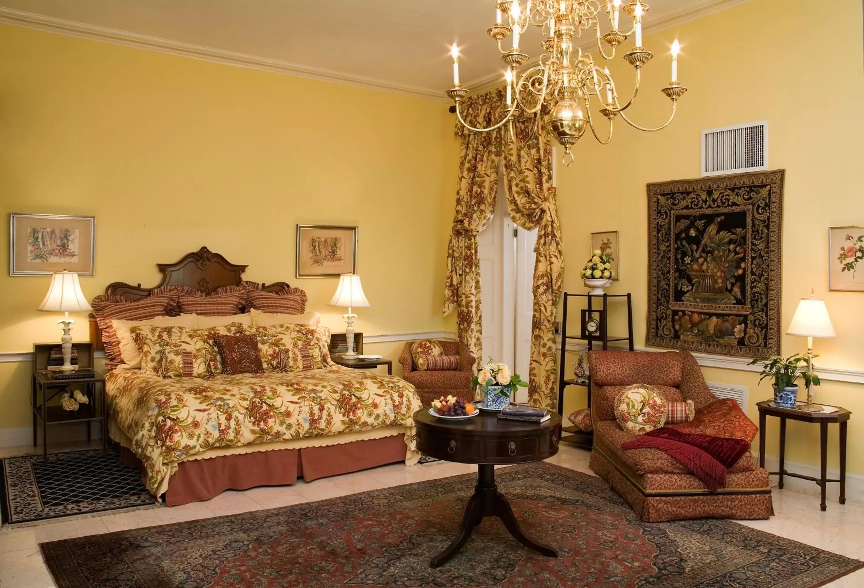
<path id="1" fill-rule="evenodd" d="M 460 113 L 472 126 L 486 128 L 500 120 L 501 104 L 502 91 L 488 92 L 462 101 Z M 447 248 L 444 316 L 457 312 L 456 336 L 468 346 L 480 368 L 483 332 L 477 234 L 486 228 L 495 210 L 504 145 L 500 130 L 474 133 L 457 123 L 456 136 L 461 138 L 462 146 L 456 210 Z"/>

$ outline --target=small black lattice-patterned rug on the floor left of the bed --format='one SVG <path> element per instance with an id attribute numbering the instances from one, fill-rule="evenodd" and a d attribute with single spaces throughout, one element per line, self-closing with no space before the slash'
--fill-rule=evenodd
<path id="1" fill-rule="evenodd" d="M 101 449 L 3 459 L 3 522 L 16 524 L 60 516 L 155 504 L 141 471 Z"/>

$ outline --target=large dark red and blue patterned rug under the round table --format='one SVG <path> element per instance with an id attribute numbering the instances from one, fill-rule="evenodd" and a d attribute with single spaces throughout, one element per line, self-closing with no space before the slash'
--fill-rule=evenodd
<path id="1" fill-rule="evenodd" d="M 812 588 L 864 566 L 747 528 L 643 523 L 596 477 L 545 463 L 499 469 L 544 558 L 486 519 L 444 566 L 472 475 L 283 509 L 42 543 L 59 588 L 108 586 L 657 586 Z M 314 483 L 313 483 L 314 484 Z"/>

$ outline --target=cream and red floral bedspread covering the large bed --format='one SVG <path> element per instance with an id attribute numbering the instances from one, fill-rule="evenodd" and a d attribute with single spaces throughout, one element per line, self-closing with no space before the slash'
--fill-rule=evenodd
<path id="1" fill-rule="evenodd" d="M 215 447 L 402 426 L 411 457 L 411 416 L 422 408 L 410 383 L 340 366 L 210 379 L 116 370 L 105 376 L 105 390 L 109 414 L 132 439 L 154 494 L 184 458 Z"/>

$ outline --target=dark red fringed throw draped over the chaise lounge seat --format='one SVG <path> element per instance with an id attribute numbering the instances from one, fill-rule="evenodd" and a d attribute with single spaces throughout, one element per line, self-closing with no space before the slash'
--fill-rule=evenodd
<path id="1" fill-rule="evenodd" d="M 692 471 L 708 490 L 716 492 L 726 487 L 728 468 L 750 449 L 750 444 L 744 439 L 681 433 L 662 427 L 622 443 L 621 449 L 656 449 L 664 452 Z"/>

